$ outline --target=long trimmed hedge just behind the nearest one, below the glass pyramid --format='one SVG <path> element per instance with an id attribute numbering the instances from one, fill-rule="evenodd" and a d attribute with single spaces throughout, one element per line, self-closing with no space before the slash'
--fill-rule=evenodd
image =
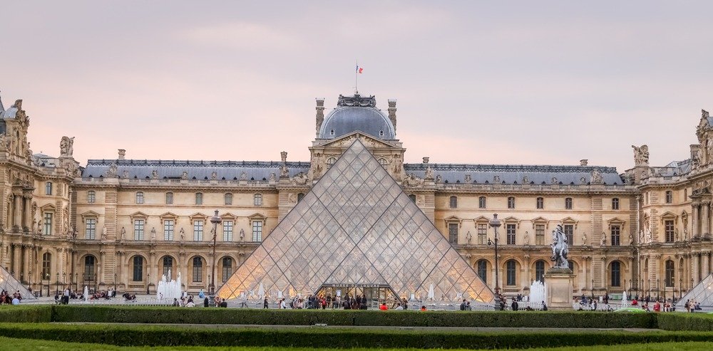
<path id="1" fill-rule="evenodd" d="M 53 322 L 369 325 L 466 328 L 657 328 L 653 313 L 254 310 L 54 305 Z"/>

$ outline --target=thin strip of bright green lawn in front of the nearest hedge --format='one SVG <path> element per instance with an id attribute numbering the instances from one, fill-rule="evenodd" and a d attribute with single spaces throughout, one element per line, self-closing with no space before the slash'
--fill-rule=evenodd
<path id="1" fill-rule="evenodd" d="M 82 344 L 78 342 L 61 342 L 48 340 L 14 339 L 11 337 L 0 337 L 1 350 L 53 350 L 53 351 L 73 351 L 73 350 L 236 350 L 236 351 L 331 351 L 332 349 L 312 349 L 312 348 L 292 348 L 292 347 L 120 347 L 103 344 Z M 525 350 L 551 350 L 551 351 L 618 351 L 625 347 L 632 351 L 688 351 L 688 350 L 713 350 L 713 342 L 662 342 L 652 344 L 630 344 L 612 346 L 587 346 L 587 347 L 556 347 L 545 349 L 525 349 Z M 374 351 L 376 349 L 353 349 L 354 351 Z M 384 351 L 423 351 L 419 349 L 379 349 Z M 463 350 L 463 349 L 460 349 Z M 520 349 L 523 350 L 523 349 Z M 453 350 L 457 351 L 457 350 Z"/>

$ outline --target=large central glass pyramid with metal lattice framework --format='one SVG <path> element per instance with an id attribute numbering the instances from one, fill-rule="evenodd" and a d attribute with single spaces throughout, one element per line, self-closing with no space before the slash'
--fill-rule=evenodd
<path id="1" fill-rule="evenodd" d="M 323 285 L 493 300 L 490 288 L 358 139 L 217 295 L 250 298 L 259 289 L 308 295 Z"/>

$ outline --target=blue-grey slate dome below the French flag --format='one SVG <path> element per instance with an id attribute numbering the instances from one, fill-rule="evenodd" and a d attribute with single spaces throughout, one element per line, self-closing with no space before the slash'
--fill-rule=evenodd
<path id="1" fill-rule="evenodd" d="M 353 97 L 339 95 L 337 108 L 324 117 L 319 138 L 334 139 L 357 130 L 379 139 L 396 138 L 394 125 L 389 116 L 376 108 L 374 96 L 365 98 L 359 94 L 354 94 Z"/>

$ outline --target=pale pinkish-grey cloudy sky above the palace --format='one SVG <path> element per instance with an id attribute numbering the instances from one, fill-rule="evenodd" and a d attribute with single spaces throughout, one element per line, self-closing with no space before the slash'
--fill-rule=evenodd
<path id="1" fill-rule="evenodd" d="M 308 161 L 314 98 L 398 99 L 406 162 L 685 159 L 713 110 L 710 1 L 14 1 L 0 96 L 34 152 Z M 472 4 L 471 4 L 472 3 Z"/>

